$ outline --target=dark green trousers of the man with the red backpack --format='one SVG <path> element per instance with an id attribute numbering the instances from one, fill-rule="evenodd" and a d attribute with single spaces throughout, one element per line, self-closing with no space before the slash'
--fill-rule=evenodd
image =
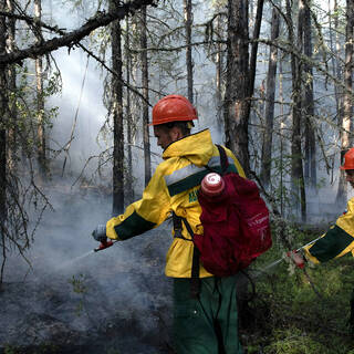
<path id="1" fill-rule="evenodd" d="M 238 335 L 236 279 L 200 279 L 198 299 L 190 279 L 174 280 L 174 344 L 177 354 L 242 354 Z"/>

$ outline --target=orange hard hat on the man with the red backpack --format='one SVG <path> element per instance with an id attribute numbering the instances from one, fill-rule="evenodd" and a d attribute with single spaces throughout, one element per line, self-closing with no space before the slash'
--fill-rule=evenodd
<path id="1" fill-rule="evenodd" d="M 155 104 L 153 123 L 149 125 L 192 119 L 198 119 L 197 110 L 194 105 L 184 96 L 168 95 Z"/>

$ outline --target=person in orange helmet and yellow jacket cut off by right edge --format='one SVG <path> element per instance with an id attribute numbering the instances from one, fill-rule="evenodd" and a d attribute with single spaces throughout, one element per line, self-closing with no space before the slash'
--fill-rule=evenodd
<path id="1" fill-rule="evenodd" d="M 346 181 L 354 188 L 354 147 L 344 155 L 344 165 L 340 168 L 345 170 Z M 354 198 L 348 200 L 345 212 L 336 219 L 335 225 L 319 240 L 304 248 L 305 258 L 313 263 L 326 262 L 348 252 L 354 256 Z M 298 254 L 294 261 L 300 264 L 303 260 Z M 350 325 L 354 329 L 354 291 L 351 300 Z"/>

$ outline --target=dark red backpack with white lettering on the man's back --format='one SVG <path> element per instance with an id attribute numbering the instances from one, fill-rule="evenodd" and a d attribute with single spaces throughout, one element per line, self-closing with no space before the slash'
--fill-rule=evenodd
<path id="1" fill-rule="evenodd" d="M 208 272 L 228 277 L 247 268 L 272 246 L 269 210 L 256 183 L 237 173 L 227 173 L 226 152 L 221 146 L 217 147 L 225 189 L 214 197 L 207 197 L 201 190 L 198 192 L 204 235 L 192 235 L 184 219 L 196 246 L 191 278 L 199 275 L 199 269 L 196 270 L 198 256 Z"/>

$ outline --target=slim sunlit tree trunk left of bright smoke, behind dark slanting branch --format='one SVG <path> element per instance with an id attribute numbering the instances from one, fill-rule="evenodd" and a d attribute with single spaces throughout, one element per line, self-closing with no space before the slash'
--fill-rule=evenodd
<path id="1" fill-rule="evenodd" d="M 42 3 L 41 0 L 34 0 L 34 18 L 41 21 Z M 35 25 L 37 42 L 42 41 L 42 31 L 40 25 Z M 44 96 L 43 96 L 43 60 L 41 56 L 35 59 L 35 87 L 37 87 L 37 135 L 38 135 L 38 164 L 40 175 L 43 178 L 46 174 L 46 154 L 45 154 L 45 126 L 44 126 Z"/>

